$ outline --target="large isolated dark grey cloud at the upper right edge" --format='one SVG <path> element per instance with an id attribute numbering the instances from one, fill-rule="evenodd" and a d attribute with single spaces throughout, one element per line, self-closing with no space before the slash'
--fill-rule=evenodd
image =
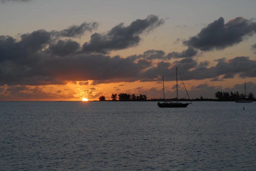
<path id="1" fill-rule="evenodd" d="M 224 18 L 220 17 L 183 44 L 202 51 L 221 50 L 244 41 L 255 31 L 256 23 L 253 19 L 237 17 L 224 24 Z"/>

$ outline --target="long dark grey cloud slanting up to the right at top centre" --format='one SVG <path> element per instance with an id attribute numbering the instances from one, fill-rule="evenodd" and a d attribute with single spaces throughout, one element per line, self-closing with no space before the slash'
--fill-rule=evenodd
<path id="1" fill-rule="evenodd" d="M 137 19 L 129 26 L 124 23 L 113 27 L 106 34 L 94 33 L 89 42 L 83 44 L 82 52 L 108 53 L 111 50 L 126 49 L 138 45 L 140 35 L 164 24 L 158 16 L 148 15 L 146 19 Z"/>

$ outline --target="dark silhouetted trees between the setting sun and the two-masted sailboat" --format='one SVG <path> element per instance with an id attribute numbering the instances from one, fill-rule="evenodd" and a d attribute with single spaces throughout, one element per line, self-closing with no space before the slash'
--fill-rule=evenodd
<path id="1" fill-rule="evenodd" d="M 118 97 L 117 97 L 118 96 Z M 140 94 L 139 96 L 136 96 L 134 93 L 133 94 L 127 94 L 127 93 L 120 93 L 120 94 L 114 94 L 112 93 L 111 95 L 112 101 L 146 101 L 148 99 L 146 94 Z M 105 101 L 105 95 L 101 95 L 99 97 L 99 101 Z"/>

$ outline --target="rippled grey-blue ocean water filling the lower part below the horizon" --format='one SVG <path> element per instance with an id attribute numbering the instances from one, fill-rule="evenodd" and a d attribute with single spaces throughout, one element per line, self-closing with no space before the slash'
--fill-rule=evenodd
<path id="1" fill-rule="evenodd" d="M 0 170 L 253 171 L 255 104 L 0 102 Z"/>

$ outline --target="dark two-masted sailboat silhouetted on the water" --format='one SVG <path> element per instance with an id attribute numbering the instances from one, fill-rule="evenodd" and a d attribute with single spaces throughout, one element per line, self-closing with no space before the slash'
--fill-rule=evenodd
<path id="1" fill-rule="evenodd" d="M 167 101 L 165 101 L 165 86 L 164 86 L 164 76 L 163 76 L 164 103 L 160 103 L 160 102 L 157 103 L 158 107 L 160 107 L 160 108 L 186 108 L 187 105 L 192 103 L 192 102 L 190 102 L 190 103 L 179 103 L 178 102 L 178 78 L 177 78 L 177 71 L 179 72 L 178 68 L 176 67 L 177 102 L 167 102 Z M 179 73 L 179 75 L 180 75 L 180 73 Z M 182 78 L 181 78 L 181 80 L 182 80 Z M 182 83 L 183 83 L 183 80 L 182 80 Z M 184 85 L 184 83 L 183 83 L 183 85 Z M 185 87 L 185 85 L 184 85 L 184 87 Z M 185 87 L 185 90 L 187 92 L 186 87 Z M 188 95 L 188 93 L 187 93 L 187 95 Z M 188 97 L 189 97 L 189 95 L 188 95 Z M 189 99 L 190 99 L 190 97 L 189 97 Z"/>

